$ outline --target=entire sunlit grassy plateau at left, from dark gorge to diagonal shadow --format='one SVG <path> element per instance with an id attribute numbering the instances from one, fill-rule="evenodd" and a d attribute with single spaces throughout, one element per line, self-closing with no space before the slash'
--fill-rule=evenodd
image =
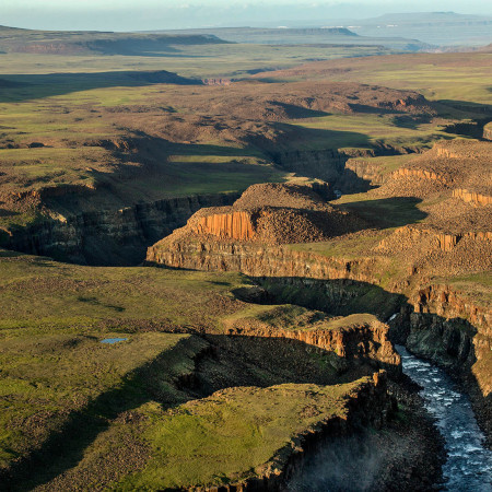
<path id="1" fill-rule="evenodd" d="M 244 285 L 236 273 L 78 267 L 0 250 L 0 468 L 87 405 L 94 419 L 118 401 L 141 405 L 148 364 L 159 361 L 162 395 L 179 400 L 172 383 L 204 342 L 162 330 L 220 333 L 221 318 L 244 309 L 232 292 Z M 108 337 L 127 340 L 102 344 Z"/>

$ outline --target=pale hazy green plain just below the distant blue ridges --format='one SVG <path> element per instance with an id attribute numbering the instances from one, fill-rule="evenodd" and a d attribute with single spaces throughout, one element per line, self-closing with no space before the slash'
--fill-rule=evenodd
<path id="1" fill-rule="evenodd" d="M 294 67 L 312 59 L 387 52 L 378 46 L 311 46 L 210 44 L 175 46 L 178 52 L 152 56 L 0 55 L 0 74 L 75 73 L 122 70 L 167 70 L 181 77 L 244 77 L 249 70 Z"/>

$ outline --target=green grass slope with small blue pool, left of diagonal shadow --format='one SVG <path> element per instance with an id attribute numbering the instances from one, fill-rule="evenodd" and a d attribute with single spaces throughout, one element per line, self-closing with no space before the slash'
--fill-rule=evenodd
<path id="1" fill-rule="evenodd" d="M 128 385 L 132 371 L 188 337 L 131 333 L 128 341 L 107 345 L 99 342 L 102 335 L 68 335 L 62 330 L 49 335 L 43 330 L 25 336 L 3 335 L 0 468 L 42 445 L 71 412 Z"/>

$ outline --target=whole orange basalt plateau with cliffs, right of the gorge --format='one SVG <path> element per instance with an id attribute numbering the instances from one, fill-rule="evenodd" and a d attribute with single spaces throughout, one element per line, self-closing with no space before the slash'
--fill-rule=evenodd
<path id="1" fill-rule="evenodd" d="M 231 207 L 195 214 L 150 247 L 147 260 L 241 271 L 276 302 L 389 319 L 394 341 L 467 386 L 490 438 L 489 151 L 487 142 L 438 143 L 360 202 L 327 202 L 313 187 L 256 185 Z M 395 216 L 387 203 L 399 208 Z M 407 224 L 388 227 L 400 219 Z"/>

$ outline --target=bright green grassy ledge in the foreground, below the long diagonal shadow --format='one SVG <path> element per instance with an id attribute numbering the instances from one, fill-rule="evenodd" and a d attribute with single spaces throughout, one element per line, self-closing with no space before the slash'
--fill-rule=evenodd
<path id="1" fill-rule="evenodd" d="M 262 476 L 285 462 L 301 433 L 344 415 L 344 397 L 360 383 L 230 388 L 167 412 L 154 407 L 144 432 L 152 458 L 112 489 L 216 485 Z"/>

